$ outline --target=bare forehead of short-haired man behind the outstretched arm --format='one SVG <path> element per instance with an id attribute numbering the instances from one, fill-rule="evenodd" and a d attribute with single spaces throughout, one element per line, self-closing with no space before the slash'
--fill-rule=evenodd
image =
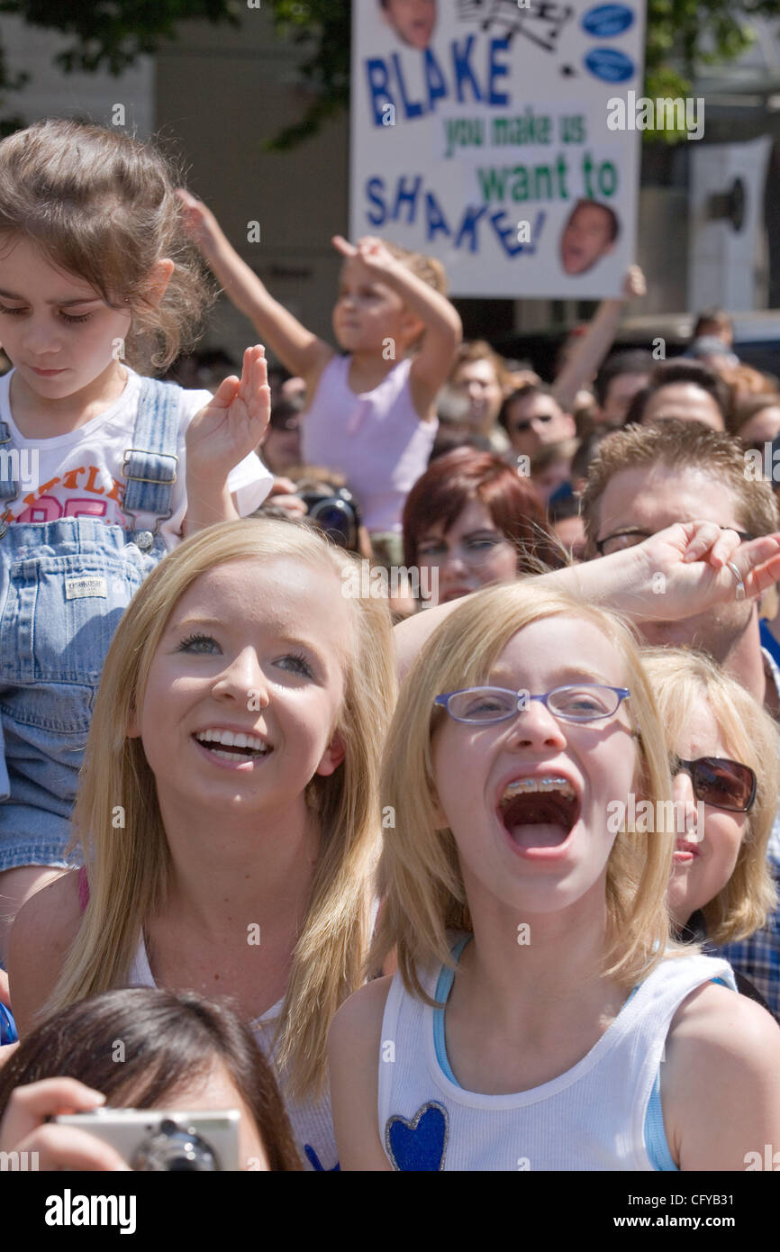
<path id="1" fill-rule="evenodd" d="M 739 526 L 737 513 L 739 500 L 722 478 L 702 470 L 642 466 L 612 475 L 601 496 L 598 530 L 659 531 L 692 521 Z"/>

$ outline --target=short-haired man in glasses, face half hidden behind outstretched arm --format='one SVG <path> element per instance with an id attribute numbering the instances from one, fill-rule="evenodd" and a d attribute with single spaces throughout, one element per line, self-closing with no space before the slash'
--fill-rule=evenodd
<path id="1" fill-rule="evenodd" d="M 736 531 L 741 538 L 777 530 L 771 485 L 745 475 L 741 447 L 699 422 L 665 421 L 627 427 L 600 446 L 582 496 L 587 556 L 607 556 L 641 543 L 675 522 L 701 518 Z M 664 620 L 659 581 L 655 620 L 640 623 L 646 642 L 697 647 L 722 665 L 774 717 L 780 719 L 780 670 L 761 647 L 757 602 L 739 596 L 706 613 Z M 780 814 L 767 855 L 780 884 Z M 780 1014 L 780 910 L 766 930 L 730 944 L 722 955 Z"/>

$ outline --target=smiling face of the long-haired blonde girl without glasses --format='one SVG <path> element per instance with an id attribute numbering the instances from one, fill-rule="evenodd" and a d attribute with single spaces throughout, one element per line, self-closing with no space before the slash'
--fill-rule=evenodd
<path id="1" fill-rule="evenodd" d="M 332 568 L 274 557 L 203 573 L 151 661 L 140 735 L 160 806 L 270 818 L 343 759 L 336 731 L 353 623 Z"/>

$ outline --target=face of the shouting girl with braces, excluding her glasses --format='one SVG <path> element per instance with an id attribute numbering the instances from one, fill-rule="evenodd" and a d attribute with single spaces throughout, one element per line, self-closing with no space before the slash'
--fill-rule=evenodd
<path id="1" fill-rule="evenodd" d="M 625 674 L 593 622 L 565 616 L 520 630 L 485 680 L 532 695 L 572 682 L 622 687 Z M 557 720 L 537 700 L 485 726 L 447 715 L 432 757 L 442 826 L 454 836 L 472 908 L 482 896 L 523 915 L 555 913 L 588 893 L 603 908 L 615 841 L 607 805 L 626 803 L 637 766 L 626 701 L 586 725 Z"/>

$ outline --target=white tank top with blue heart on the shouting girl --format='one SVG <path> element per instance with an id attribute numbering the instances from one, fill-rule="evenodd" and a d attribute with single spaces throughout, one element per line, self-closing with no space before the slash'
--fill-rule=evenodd
<path id="1" fill-rule="evenodd" d="M 438 975 L 421 979 L 431 997 Z M 686 995 L 716 978 L 734 988 L 725 960 L 661 962 L 576 1065 L 531 1090 L 485 1096 L 444 1073 L 434 1010 L 396 974 L 379 1057 L 379 1137 L 388 1161 L 407 1171 L 654 1169 L 645 1116 L 669 1027 Z"/>

